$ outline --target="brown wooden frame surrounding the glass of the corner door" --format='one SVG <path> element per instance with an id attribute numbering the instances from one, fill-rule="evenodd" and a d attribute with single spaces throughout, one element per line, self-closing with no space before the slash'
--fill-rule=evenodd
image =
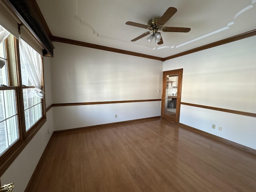
<path id="1" fill-rule="evenodd" d="M 176 102 L 176 118 L 175 122 L 176 124 L 179 124 L 180 122 L 180 102 L 181 102 L 181 89 L 182 89 L 182 76 L 183 76 L 183 68 L 182 69 L 176 69 L 176 70 L 170 70 L 170 71 L 164 71 L 163 77 L 162 77 L 162 98 L 161 98 L 161 118 L 164 118 L 164 109 L 165 109 L 165 96 L 166 96 L 166 76 L 169 74 L 178 74 L 179 80 L 178 80 L 178 92 L 177 92 L 177 102 Z"/>

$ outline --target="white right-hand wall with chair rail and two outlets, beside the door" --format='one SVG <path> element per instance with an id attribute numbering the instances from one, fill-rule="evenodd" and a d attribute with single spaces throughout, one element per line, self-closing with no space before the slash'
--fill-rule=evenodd
<path id="1" fill-rule="evenodd" d="M 182 102 L 256 113 L 255 45 L 253 36 L 195 52 L 165 61 L 163 71 L 183 68 Z M 256 118 L 182 105 L 180 123 L 256 149 Z"/>

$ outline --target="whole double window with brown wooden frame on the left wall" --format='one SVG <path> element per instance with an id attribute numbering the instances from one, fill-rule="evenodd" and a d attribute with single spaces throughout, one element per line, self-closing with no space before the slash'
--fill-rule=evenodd
<path id="1" fill-rule="evenodd" d="M 0 175 L 46 121 L 42 56 L 3 31 L 0 26 Z"/>

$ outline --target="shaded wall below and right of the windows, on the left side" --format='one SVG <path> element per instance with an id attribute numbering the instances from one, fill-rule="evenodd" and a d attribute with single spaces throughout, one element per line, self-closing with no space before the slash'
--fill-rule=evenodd
<path id="1" fill-rule="evenodd" d="M 51 84 L 50 84 L 50 60 L 44 58 L 44 85 L 46 95 L 46 107 L 51 103 Z M 14 160 L 10 167 L 1 176 L 1 184 L 14 182 L 13 192 L 23 192 L 36 168 L 36 165 L 42 156 L 42 153 L 53 133 L 53 109 L 46 113 L 47 121 L 36 133 L 29 144 Z M 49 134 L 48 134 L 49 130 Z"/>

